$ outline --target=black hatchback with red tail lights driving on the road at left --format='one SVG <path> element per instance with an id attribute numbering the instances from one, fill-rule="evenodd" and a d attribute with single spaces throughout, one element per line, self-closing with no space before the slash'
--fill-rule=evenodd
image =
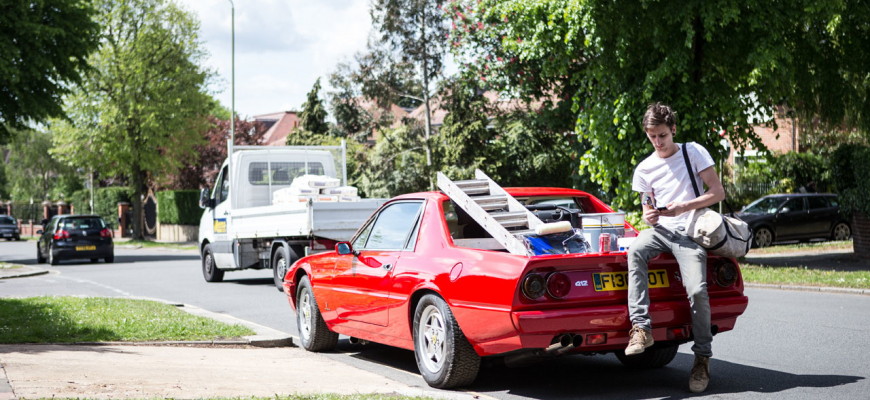
<path id="1" fill-rule="evenodd" d="M 112 231 L 99 215 L 56 215 L 36 231 L 36 262 L 51 265 L 60 260 L 115 261 Z"/>

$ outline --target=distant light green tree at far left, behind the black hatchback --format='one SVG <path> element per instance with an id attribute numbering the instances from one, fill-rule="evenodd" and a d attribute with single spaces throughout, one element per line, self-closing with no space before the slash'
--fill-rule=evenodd
<path id="1" fill-rule="evenodd" d="M 75 168 L 49 154 L 52 135 L 41 130 L 12 131 L 6 172 L 15 200 L 58 200 L 82 186 Z"/>

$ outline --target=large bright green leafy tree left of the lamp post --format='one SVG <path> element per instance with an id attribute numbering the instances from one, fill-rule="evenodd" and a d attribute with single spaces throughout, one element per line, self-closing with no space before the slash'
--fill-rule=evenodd
<path id="1" fill-rule="evenodd" d="M 88 60 L 94 73 L 68 102 L 73 123 L 55 137 L 54 154 L 127 176 L 133 237 L 141 239 L 148 174 L 177 170 L 203 143 L 211 72 L 201 67 L 199 23 L 175 3 L 104 0 L 97 9 L 104 30 L 100 50 Z"/>

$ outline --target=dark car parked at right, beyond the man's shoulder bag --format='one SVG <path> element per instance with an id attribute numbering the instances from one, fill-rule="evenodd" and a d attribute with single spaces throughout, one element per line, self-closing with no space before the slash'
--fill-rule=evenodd
<path id="1" fill-rule="evenodd" d="M 835 194 L 772 194 L 753 201 L 737 216 L 752 227 L 753 247 L 789 240 L 848 240 L 852 236 Z"/>

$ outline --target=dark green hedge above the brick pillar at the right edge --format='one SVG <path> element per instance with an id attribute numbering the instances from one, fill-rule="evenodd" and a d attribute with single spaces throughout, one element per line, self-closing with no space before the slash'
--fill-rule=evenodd
<path id="1" fill-rule="evenodd" d="M 844 144 L 830 159 L 831 175 L 846 213 L 870 216 L 870 147 Z"/>

